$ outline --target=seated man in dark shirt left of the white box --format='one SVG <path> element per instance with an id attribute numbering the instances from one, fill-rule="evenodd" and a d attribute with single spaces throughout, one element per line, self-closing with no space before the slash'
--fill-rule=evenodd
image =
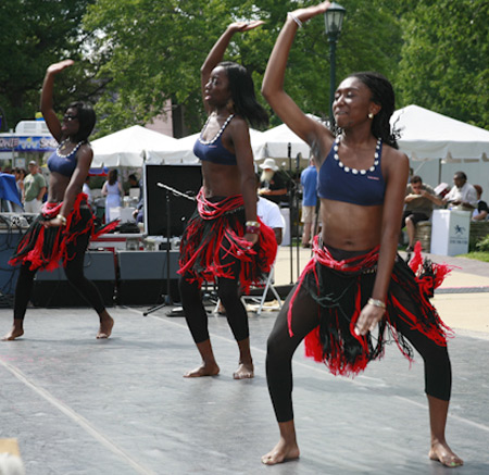
<path id="1" fill-rule="evenodd" d="M 429 221 L 434 204 L 440 207 L 443 201 L 436 196 L 435 190 L 429 185 L 423 183 L 421 176 L 414 175 L 405 189 L 404 203 L 405 209 L 402 215 L 401 228 L 405 226 L 409 237 L 406 251 L 412 252 L 414 249 L 416 224 L 419 221 Z"/>

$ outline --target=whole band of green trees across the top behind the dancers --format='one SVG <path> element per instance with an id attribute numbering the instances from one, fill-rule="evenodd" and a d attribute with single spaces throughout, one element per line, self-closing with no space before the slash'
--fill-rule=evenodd
<path id="1" fill-rule="evenodd" d="M 64 58 L 75 66 L 57 78 L 55 107 L 96 103 L 98 134 L 146 124 L 183 105 L 190 132 L 204 113 L 200 66 L 236 20 L 265 24 L 235 35 L 226 58 L 252 74 L 256 97 L 288 11 L 311 0 L 2 0 L 0 107 L 13 127 L 38 110 L 46 67 Z M 416 103 L 489 128 L 489 3 L 487 0 L 343 0 L 336 85 L 355 71 L 389 77 L 398 107 Z M 300 108 L 326 116 L 329 45 L 324 18 L 298 30 L 285 87 Z M 273 125 L 279 123 L 272 116 Z"/>

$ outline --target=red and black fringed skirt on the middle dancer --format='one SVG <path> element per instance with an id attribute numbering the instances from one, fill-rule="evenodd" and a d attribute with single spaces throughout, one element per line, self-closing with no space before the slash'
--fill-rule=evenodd
<path id="1" fill-rule="evenodd" d="M 277 253 L 274 232 L 260 222 L 259 241 L 250 248 L 244 239 L 242 196 L 208 200 L 201 189 L 197 200 L 197 211 L 181 237 L 178 274 L 199 286 L 216 277 L 236 278 L 233 266 L 239 260 L 241 288 L 247 291 L 251 285 L 263 285 Z"/>

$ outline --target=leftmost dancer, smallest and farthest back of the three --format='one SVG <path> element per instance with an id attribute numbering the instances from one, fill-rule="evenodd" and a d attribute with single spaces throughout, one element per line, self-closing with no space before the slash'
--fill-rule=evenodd
<path id="1" fill-rule="evenodd" d="M 15 287 L 13 327 L 3 340 L 24 335 L 24 315 L 36 272 L 52 271 L 60 266 L 60 261 L 67 279 L 99 314 L 97 338 L 109 338 L 114 325 L 97 287 L 84 276 L 84 257 L 90 236 L 111 228 L 104 227 L 96 233 L 95 216 L 86 195 L 82 193 L 93 158 L 88 136 L 93 129 L 96 114 L 91 105 L 73 102 L 60 122 L 52 105 L 54 77 L 73 63 L 64 60 L 51 64 L 42 85 L 42 115 L 60 145 L 48 160 L 51 172 L 48 201 L 9 262 L 11 265 L 21 264 L 21 271 Z"/>

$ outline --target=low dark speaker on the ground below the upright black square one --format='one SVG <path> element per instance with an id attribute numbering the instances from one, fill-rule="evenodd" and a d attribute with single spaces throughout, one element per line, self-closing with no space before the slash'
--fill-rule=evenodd
<path id="1" fill-rule="evenodd" d="M 179 301 L 178 251 L 170 251 L 170 295 Z M 166 295 L 167 251 L 117 251 L 117 303 L 154 305 Z"/>

